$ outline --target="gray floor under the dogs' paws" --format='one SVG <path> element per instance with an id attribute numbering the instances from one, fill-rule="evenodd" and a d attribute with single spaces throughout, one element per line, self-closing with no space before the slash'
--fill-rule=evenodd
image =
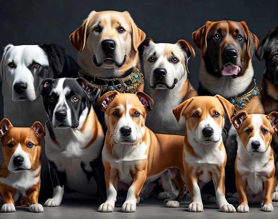
<path id="1" fill-rule="evenodd" d="M 238 206 L 236 199 L 228 199 L 228 201 Z M 100 201 L 78 201 L 78 200 L 64 200 L 59 207 L 44 207 L 43 213 L 30 213 L 27 207 L 16 207 L 16 212 L 13 213 L 0 213 L 0 218 L 16 218 L 16 219 L 31 219 L 31 218 L 235 218 L 240 217 L 247 218 L 278 218 L 278 202 L 274 202 L 273 212 L 262 212 L 260 206 L 257 204 L 249 205 L 249 213 L 223 213 L 220 212 L 217 204 L 215 203 L 204 203 L 204 212 L 193 213 L 188 212 L 188 205 L 190 204 L 189 199 L 183 199 L 179 208 L 168 208 L 165 207 L 162 200 L 151 197 L 145 199 L 143 202 L 137 205 L 135 213 L 123 213 L 121 212 L 121 205 L 124 202 L 124 197 L 118 198 L 114 212 L 112 213 L 101 213 L 97 209 Z"/>

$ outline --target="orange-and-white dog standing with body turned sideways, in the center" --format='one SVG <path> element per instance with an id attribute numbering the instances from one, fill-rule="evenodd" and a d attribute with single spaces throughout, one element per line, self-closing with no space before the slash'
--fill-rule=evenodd
<path id="1" fill-rule="evenodd" d="M 167 206 L 178 207 L 184 186 L 181 179 L 183 136 L 155 134 L 145 126 L 153 100 L 142 92 L 120 94 L 110 91 L 101 96 L 97 104 L 107 115 L 108 126 L 102 150 L 107 200 L 98 210 L 114 210 L 120 180 L 130 185 L 122 212 L 135 212 L 145 181 L 158 179 L 172 167 L 180 170 L 173 175 L 180 193 L 177 200 L 169 201 Z"/>

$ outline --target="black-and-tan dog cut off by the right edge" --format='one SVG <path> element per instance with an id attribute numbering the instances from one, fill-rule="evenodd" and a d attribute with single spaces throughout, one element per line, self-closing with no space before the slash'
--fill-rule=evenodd
<path id="1" fill-rule="evenodd" d="M 266 60 L 266 70 L 262 80 L 262 105 L 265 113 L 278 111 L 278 27 L 273 28 L 262 40 L 256 51 L 257 58 Z M 272 200 L 278 201 L 278 134 L 272 137 L 276 165 L 275 184 Z"/>

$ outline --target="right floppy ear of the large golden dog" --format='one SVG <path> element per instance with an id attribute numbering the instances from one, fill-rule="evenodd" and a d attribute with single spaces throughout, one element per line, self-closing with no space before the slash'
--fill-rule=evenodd
<path id="1" fill-rule="evenodd" d="M 132 31 L 132 46 L 135 52 L 137 52 L 138 46 L 145 40 L 146 34 L 136 26 L 128 11 L 124 11 L 123 13 L 126 14 L 129 19 Z"/>

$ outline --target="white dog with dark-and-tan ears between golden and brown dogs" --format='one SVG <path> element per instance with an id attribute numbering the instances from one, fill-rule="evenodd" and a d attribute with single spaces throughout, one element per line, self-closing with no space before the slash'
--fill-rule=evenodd
<path id="1" fill-rule="evenodd" d="M 144 59 L 145 75 L 154 100 L 153 109 L 146 116 L 146 126 L 154 133 L 184 135 L 184 119 L 178 124 L 172 110 L 197 96 L 187 79 L 188 60 L 191 54 L 195 57 L 193 47 L 186 40 L 156 44 L 148 38 L 138 50 Z"/>

